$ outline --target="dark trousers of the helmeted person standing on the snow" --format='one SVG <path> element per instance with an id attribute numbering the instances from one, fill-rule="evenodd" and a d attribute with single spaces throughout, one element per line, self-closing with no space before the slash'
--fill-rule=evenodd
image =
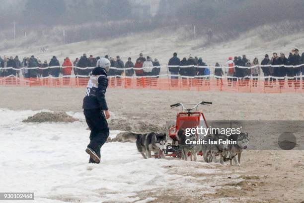
<path id="1" fill-rule="evenodd" d="M 100 148 L 106 142 L 109 137 L 109 127 L 103 110 L 99 108 L 83 109 L 86 123 L 91 130 L 90 143 L 87 147 L 96 152 L 100 158 Z M 89 163 L 96 163 L 91 158 Z"/>

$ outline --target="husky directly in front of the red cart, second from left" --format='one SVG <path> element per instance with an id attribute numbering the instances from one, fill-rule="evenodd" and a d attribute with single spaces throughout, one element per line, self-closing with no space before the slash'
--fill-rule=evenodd
<path id="1" fill-rule="evenodd" d="M 191 134 L 190 136 L 186 136 L 186 131 L 184 129 L 180 129 L 177 132 L 177 138 L 179 142 L 179 149 L 181 150 L 181 159 L 182 160 L 188 160 L 188 152 L 190 151 L 190 159 L 193 161 L 192 156 L 195 153 L 195 145 L 194 144 L 186 144 L 186 140 L 194 141 L 196 140 L 196 135 Z M 188 143 L 188 142 L 187 142 Z"/>

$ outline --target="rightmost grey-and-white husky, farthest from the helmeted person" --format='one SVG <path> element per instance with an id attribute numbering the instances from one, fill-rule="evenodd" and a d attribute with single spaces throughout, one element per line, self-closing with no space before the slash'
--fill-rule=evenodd
<path id="1" fill-rule="evenodd" d="M 240 159 L 244 149 L 248 147 L 249 144 L 249 134 L 241 132 L 240 134 L 232 134 L 228 139 L 236 141 L 236 144 L 229 144 L 228 150 L 222 154 L 224 161 L 230 160 L 230 165 L 232 166 L 232 160 L 235 165 L 240 165 Z M 237 158 L 236 158 L 237 155 Z"/>

